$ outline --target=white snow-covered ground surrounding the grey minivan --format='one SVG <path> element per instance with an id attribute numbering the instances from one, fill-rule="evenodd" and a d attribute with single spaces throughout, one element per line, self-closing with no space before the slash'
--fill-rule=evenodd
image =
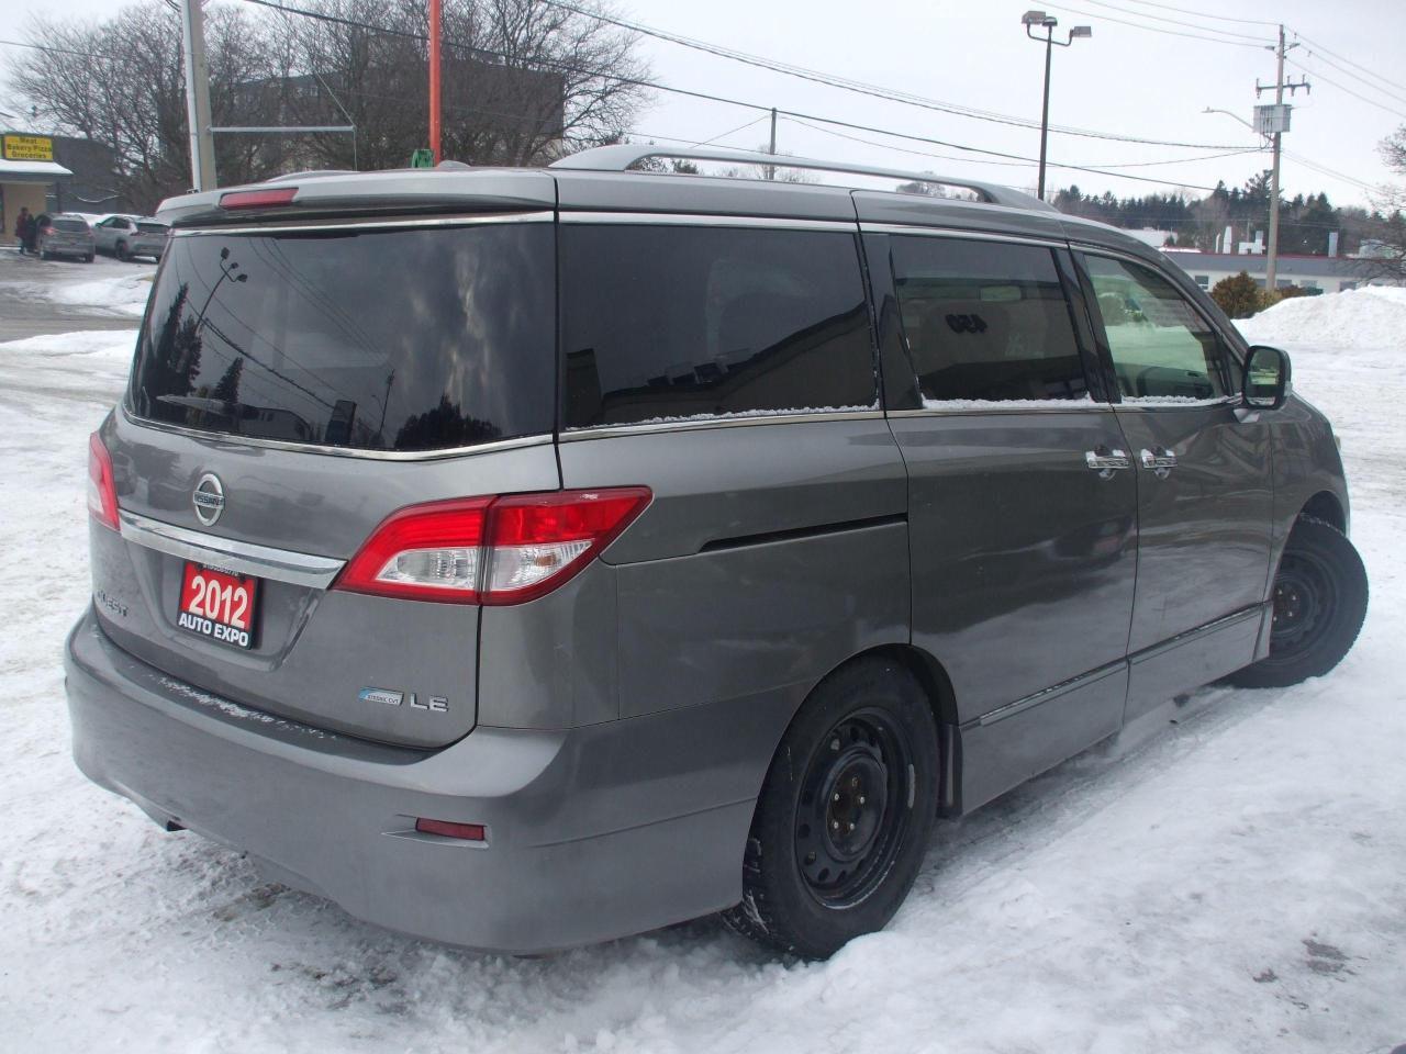
<path id="1" fill-rule="evenodd" d="M 1385 1054 L 1406 1043 L 1400 332 L 1278 341 L 1339 423 L 1372 576 L 1343 666 L 1202 690 L 939 825 L 889 930 L 824 964 L 716 920 L 538 960 L 416 942 L 87 784 L 59 649 L 87 603 L 84 445 L 118 353 L 0 346 L 6 1047 Z"/>

